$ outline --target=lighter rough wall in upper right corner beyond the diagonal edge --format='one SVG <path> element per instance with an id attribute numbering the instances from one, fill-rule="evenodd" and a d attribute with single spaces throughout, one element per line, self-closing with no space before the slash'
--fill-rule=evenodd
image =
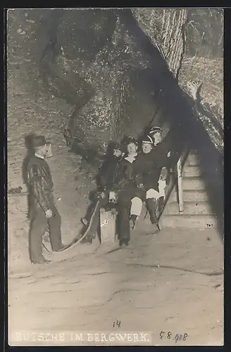
<path id="1" fill-rule="evenodd" d="M 135 8 L 132 13 L 166 58 L 194 119 L 223 153 L 223 9 Z"/>

